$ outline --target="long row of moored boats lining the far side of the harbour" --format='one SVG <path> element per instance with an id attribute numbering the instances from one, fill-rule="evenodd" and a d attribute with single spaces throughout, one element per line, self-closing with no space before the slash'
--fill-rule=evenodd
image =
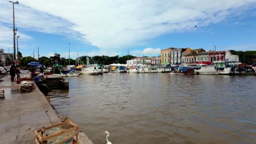
<path id="1" fill-rule="evenodd" d="M 238 71 L 237 62 L 218 61 L 214 65 L 182 65 L 178 67 L 104 67 L 103 65 L 91 64 L 81 68 L 79 71 L 68 71 L 65 74 L 54 74 L 56 76 L 78 76 L 79 74 L 98 75 L 103 73 L 169 73 L 169 74 L 200 74 L 200 75 L 236 75 Z"/>

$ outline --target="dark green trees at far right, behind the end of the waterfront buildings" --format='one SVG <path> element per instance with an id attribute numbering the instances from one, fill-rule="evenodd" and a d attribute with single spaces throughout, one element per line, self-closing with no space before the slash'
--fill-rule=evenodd
<path id="1" fill-rule="evenodd" d="M 234 51 L 230 50 L 233 55 L 239 56 L 239 61 L 245 64 L 253 64 L 253 59 L 256 58 L 256 51 Z"/>

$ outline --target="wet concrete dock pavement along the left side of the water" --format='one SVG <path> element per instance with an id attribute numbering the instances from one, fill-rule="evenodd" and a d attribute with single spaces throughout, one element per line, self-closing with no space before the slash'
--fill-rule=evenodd
<path id="1" fill-rule="evenodd" d="M 5 99 L 0 100 L 0 143 L 35 143 L 34 130 L 61 122 L 37 86 L 21 93 L 20 84 L 10 82 L 10 75 L 1 80 Z M 83 133 L 78 139 L 79 143 L 92 143 Z"/>

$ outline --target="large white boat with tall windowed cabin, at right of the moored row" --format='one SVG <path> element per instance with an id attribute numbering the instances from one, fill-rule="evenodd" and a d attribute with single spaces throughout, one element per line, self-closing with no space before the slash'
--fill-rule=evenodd
<path id="1" fill-rule="evenodd" d="M 213 62 L 220 75 L 238 75 L 238 62 L 235 61 L 216 61 Z"/>

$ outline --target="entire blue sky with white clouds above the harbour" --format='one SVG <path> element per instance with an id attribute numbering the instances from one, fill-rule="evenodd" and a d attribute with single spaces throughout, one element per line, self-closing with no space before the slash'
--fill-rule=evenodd
<path id="1" fill-rule="evenodd" d="M 256 50 L 256 0 L 20 0 L 23 56 L 159 56 L 168 47 Z M 195 27 L 196 26 L 196 27 Z M 13 52 L 13 4 L 0 0 L 0 49 Z M 34 55 L 33 55 L 34 53 Z"/>

